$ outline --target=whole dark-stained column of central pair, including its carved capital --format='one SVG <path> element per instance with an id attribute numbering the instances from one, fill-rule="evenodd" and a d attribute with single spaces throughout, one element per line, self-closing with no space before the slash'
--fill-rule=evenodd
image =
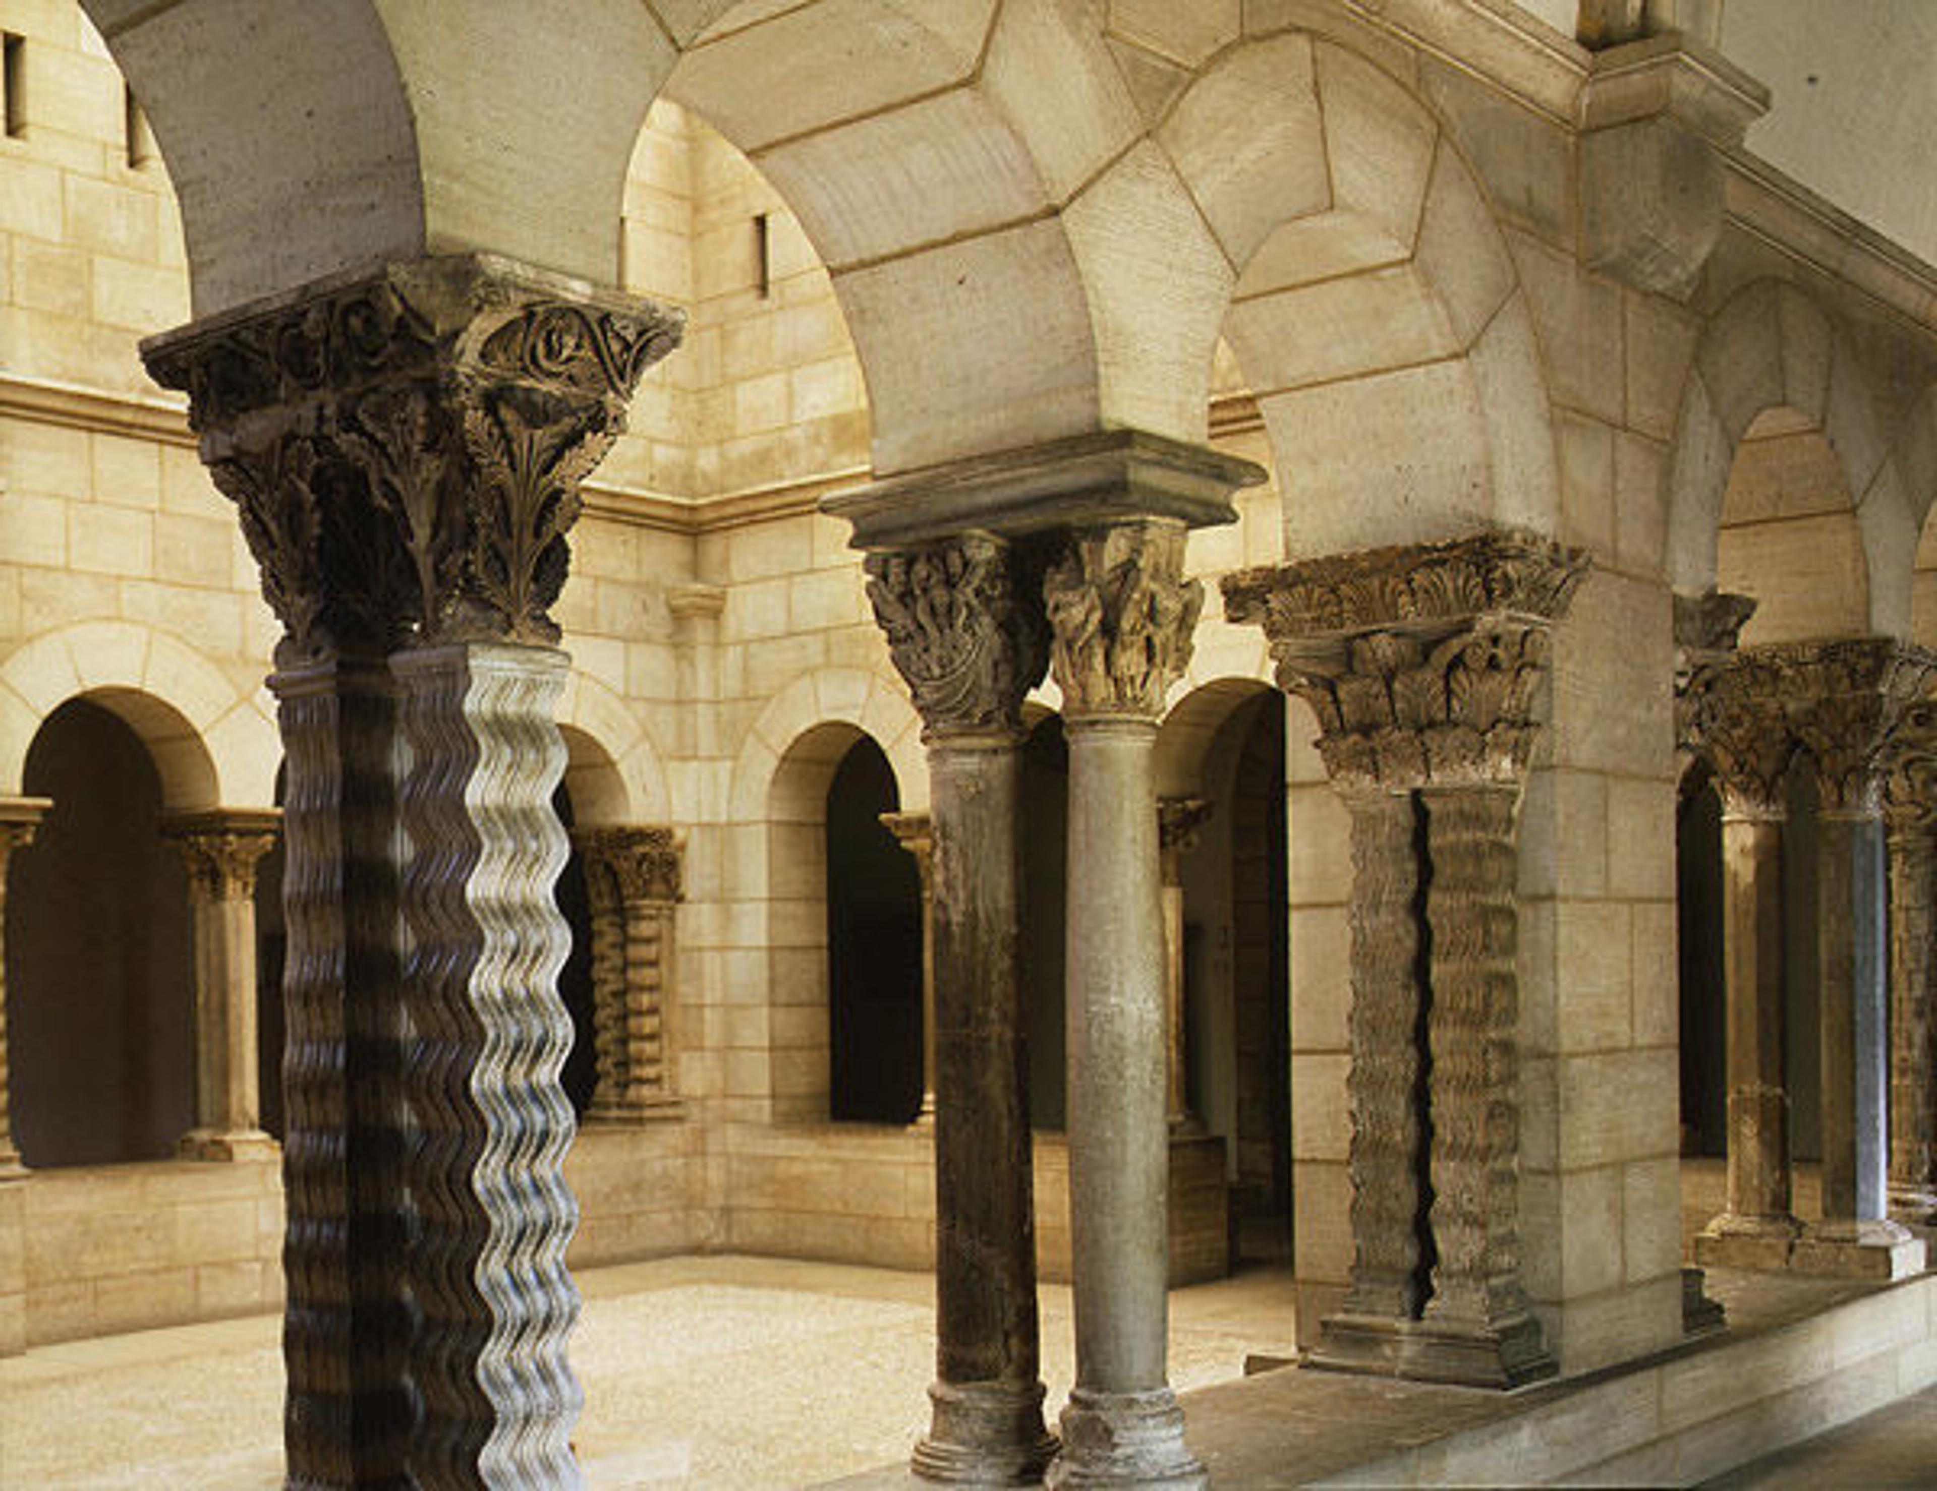
<path id="1" fill-rule="evenodd" d="M 1019 937 L 1021 709 L 1042 676 L 1042 622 L 1015 550 L 988 534 L 870 554 L 868 577 L 922 715 L 934 844 L 938 1342 L 914 1470 L 1030 1483 L 1056 1450 L 1042 1423 Z"/>

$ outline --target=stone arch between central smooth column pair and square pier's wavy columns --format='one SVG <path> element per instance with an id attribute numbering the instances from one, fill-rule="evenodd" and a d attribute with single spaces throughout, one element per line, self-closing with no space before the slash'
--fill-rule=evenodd
<path id="1" fill-rule="evenodd" d="M 1220 52 L 1154 139 L 1232 273 L 1228 314 L 1172 335 L 1197 358 L 1193 387 L 1230 339 L 1276 453 L 1290 556 L 1555 527 L 1526 294 L 1426 103 L 1338 39 L 1288 29 Z"/>

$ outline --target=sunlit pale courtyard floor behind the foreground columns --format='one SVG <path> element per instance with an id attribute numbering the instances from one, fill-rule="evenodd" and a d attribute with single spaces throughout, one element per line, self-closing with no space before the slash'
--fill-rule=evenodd
<path id="1" fill-rule="evenodd" d="M 905 1460 L 934 1377 L 922 1274 L 684 1257 L 579 1276 L 573 1437 L 595 1491 L 767 1491 Z M 1050 1415 L 1073 1379 L 1069 1290 L 1042 1288 Z M 6 1491 L 281 1485 L 279 1317 L 68 1342 L 0 1359 Z M 1170 1375 L 1290 1354 L 1286 1274 L 1172 1295 Z"/>

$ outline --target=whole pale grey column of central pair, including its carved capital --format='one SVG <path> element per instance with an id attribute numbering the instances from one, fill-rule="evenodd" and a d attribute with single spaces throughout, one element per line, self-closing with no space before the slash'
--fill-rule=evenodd
<path id="1" fill-rule="evenodd" d="M 1044 577 L 1069 736 L 1069 1272 L 1077 1381 L 1048 1485 L 1205 1485 L 1168 1383 L 1170 1185 L 1153 747 L 1203 589 L 1185 529 L 1071 532 Z"/>

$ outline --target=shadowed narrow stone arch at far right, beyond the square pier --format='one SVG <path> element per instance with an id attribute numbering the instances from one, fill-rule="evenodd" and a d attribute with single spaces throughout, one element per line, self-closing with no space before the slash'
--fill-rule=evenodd
<path id="1" fill-rule="evenodd" d="M 1920 503 L 1885 440 L 1856 347 L 1782 281 L 1743 287 L 1703 327 L 1668 474 L 1670 585 L 1681 594 L 1714 585 L 1730 469 L 1749 426 L 1780 409 L 1821 430 L 1842 469 L 1869 567 L 1869 629 L 1908 633 Z"/>

